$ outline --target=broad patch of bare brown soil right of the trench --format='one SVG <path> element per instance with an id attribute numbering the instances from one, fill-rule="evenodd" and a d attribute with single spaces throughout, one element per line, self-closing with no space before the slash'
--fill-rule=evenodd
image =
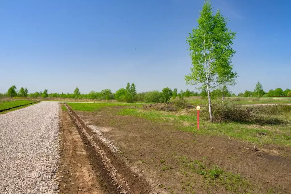
<path id="1" fill-rule="evenodd" d="M 121 149 L 129 165 L 140 169 L 146 180 L 162 191 L 291 193 L 290 147 L 265 145 L 260 151 L 255 151 L 250 143 L 193 135 L 175 130 L 173 124 L 116 115 L 119 108 L 122 107 L 78 113 L 87 124 L 100 127 Z M 226 172 L 239 173 L 243 181 L 232 183 L 219 178 L 208 179 L 203 173 L 193 172 L 193 161 L 199 161 L 205 169 L 218 165 Z"/>

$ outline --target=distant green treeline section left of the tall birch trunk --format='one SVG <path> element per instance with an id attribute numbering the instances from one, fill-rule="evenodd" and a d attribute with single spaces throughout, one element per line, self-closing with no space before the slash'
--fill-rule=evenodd
<path id="1" fill-rule="evenodd" d="M 118 89 L 115 93 L 111 92 L 110 89 L 104 89 L 100 92 L 91 91 L 88 94 L 81 94 L 79 88 L 77 87 L 73 93 L 48 93 L 45 89 L 40 92 L 29 93 L 27 88 L 21 87 L 17 90 L 16 86 L 11 86 L 5 94 L 0 93 L 0 97 L 28 97 L 28 98 L 77 98 L 77 99 L 96 99 L 96 100 L 112 100 L 115 99 L 119 102 L 168 102 L 171 98 L 190 96 L 200 96 L 201 93 L 189 91 L 188 89 L 184 92 L 181 90 L 178 93 L 177 88 L 173 91 L 170 88 L 163 88 L 162 92 L 158 90 L 153 90 L 149 92 L 136 92 L 136 86 L 134 83 L 127 83 L 125 88 Z"/>

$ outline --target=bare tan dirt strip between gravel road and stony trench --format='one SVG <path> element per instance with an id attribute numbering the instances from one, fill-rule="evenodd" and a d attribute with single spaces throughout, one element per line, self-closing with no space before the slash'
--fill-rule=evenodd
<path id="1" fill-rule="evenodd" d="M 60 193 L 119 193 L 91 144 L 78 133 L 68 111 L 61 111 Z"/>

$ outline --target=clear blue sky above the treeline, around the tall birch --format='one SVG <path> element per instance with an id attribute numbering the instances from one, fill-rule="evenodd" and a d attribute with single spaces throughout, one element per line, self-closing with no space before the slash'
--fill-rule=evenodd
<path id="1" fill-rule="evenodd" d="M 138 92 L 186 86 L 186 36 L 203 0 L 0 1 L 0 92 L 81 93 L 127 82 Z M 236 94 L 291 88 L 289 0 L 212 0 L 237 32 Z"/>

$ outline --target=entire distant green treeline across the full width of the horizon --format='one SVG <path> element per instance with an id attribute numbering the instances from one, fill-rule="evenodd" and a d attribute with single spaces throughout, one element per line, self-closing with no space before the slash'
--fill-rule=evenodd
<path id="1" fill-rule="evenodd" d="M 228 91 L 227 88 L 220 88 L 213 90 L 210 94 L 212 97 L 235 97 L 234 93 Z M 291 97 L 291 90 L 285 89 L 282 90 L 281 88 L 276 88 L 275 90 L 269 90 L 269 92 L 262 91 L 263 96 L 289 96 Z M 110 89 L 104 89 L 100 92 L 91 91 L 88 94 L 81 94 L 79 88 L 77 87 L 73 93 L 48 93 L 48 90 L 45 89 L 40 92 L 29 93 L 27 88 L 21 87 L 17 90 L 16 86 L 11 86 L 5 94 L 0 93 L 0 97 L 28 97 L 28 98 L 77 98 L 77 99 L 95 99 L 95 100 L 117 100 L 119 102 L 168 102 L 171 98 L 179 98 L 182 99 L 183 97 L 191 97 L 191 96 L 201 96 L 202 98 L 207 97 L 206 90 L 202 90 L 201 92 L 194 92 L 181 90 L 178 93 L 177 88 L 171 90 L 170 88 L 163 88 L 162 92 L 158 90 L 152 90 L 149 92 L 136 92 L 136 85 L 134 83 L 130 84 L 127 83 L 125 88 L 118 89 L 115 93 L 112 93 Z M 255 93 L 252 91 L 245 91 L 244 93 L 239 93 L 238 96 L 240 97 L 254 97 Z"/>

